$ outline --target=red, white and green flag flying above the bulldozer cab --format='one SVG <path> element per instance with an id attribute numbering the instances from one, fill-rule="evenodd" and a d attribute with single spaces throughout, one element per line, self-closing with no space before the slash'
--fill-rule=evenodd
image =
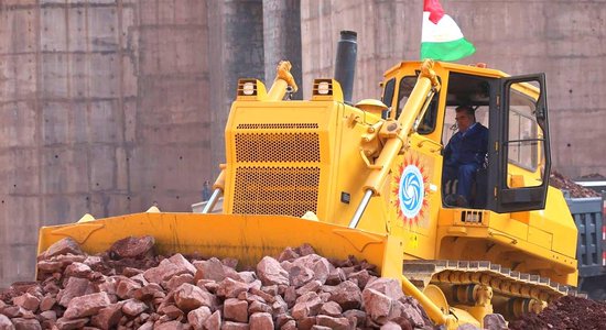
<path id="1" fill-rule="evenodd" d="M 476 52 L 439 0 L 424 0 L 421 59 L 457 61 Z"/>

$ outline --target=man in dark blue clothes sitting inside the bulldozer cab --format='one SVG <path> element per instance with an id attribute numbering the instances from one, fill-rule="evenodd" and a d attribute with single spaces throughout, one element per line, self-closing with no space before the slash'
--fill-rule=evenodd
<path id="1" fill-rule="evenodd" d="M 456 132 L 444 150 L 444 173 L 442 182 L 457 179 L 456 195 L 448 195 L 444 201 L 450 206 L 468 207 L 472 183 L 478 168 L 484 166 L 488 150 L 488 129 L 476 122 L 475 110 L 469 106 L 455 109 Z"/>

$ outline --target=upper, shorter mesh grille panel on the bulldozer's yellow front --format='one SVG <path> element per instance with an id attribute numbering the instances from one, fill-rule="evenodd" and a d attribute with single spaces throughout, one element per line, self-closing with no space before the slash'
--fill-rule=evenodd
<path id="1" fill-rule="evenodd" d="M 320 162 L 317 133 L 236 133 L 236 162 Z"/>

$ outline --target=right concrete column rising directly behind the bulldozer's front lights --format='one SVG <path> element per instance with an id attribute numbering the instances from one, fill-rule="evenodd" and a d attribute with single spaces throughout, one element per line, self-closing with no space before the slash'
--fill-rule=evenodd
<path id="1" fill-rule="evenodd" d="M 303 88 L 301 65 L 301 0 L 263 0 L 263 48 L 266 85 L 275 78 L 275 66 L 282 59 L 292 64 L 296 85 Z M 301 100 L 303 90 L 293 95 Z"/>

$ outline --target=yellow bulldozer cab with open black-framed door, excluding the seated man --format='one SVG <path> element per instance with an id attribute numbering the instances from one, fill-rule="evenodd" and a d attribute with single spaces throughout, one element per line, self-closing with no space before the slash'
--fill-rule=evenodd
<path id="1" fill-rule="evenodd" d="M 402 63 L 386 74 L 382 101 L 389 110 L 383 118 L 400 116 L 418 67 Z M 499 213 L 544 208 L 550 173 L 544 75 L 508 77 L 494 69 L 444 63 L 436 64 L 435 72 L 442 89 L 416 119 L 415 133 L 444 150 L 457 132 L 459 106 L 474 109 L 476 122 L 489 131 L 488 152 L 475 174 L 468 208 Z M 456 184 L 443 180 L 443 197 Z"/>

